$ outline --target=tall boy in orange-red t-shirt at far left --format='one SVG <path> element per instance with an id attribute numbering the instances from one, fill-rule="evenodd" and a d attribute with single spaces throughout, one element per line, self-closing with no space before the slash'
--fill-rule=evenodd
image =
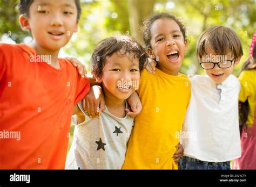
<path id="1" fill-rule="evenodd" d="M 87 78 L 58 58 L 80 16 L 79 0 L 21 0 L 28 44 L 0 44 L 0 169 L 64 169 L 73 106 Z"/>

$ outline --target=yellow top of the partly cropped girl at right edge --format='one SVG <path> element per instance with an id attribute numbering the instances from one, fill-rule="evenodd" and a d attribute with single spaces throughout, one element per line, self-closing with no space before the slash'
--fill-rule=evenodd
<path id="1" fill-rule="evenodd" d="M 241 84 L 239 100 L 245 102 L 248 99 L 249 103 L 246 125 L 252 126 L 256 107 L 256 69 L 242 71 L 238 79 Z"/>

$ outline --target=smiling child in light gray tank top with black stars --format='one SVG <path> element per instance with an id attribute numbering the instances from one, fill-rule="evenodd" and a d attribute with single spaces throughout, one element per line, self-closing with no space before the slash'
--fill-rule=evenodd
<path id="1" fill-rule="evenodd" d="M 126 114 L 126 100 L 138 89 L 140 71 L 147 62 L 144 48 L 126 35 L 106 38 L 96 46 L 91 72 L 102 83 L 105 110 L 89 118 L 82 103 L 72 117 L 76 125 L 66 169 L 121 169 L 133 118 Z"/>

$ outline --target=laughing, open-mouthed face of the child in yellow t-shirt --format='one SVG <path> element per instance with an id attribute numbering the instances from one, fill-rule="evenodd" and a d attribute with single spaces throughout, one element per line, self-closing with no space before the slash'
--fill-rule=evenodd
<path id="1" fill-rule="evenodd" d="M 151 26 L 151 58 L 156 58 L 158 68 L 166 74 L 178 75 L 187 49 L 179 25 L 172 19 L 161 18 Z"/>

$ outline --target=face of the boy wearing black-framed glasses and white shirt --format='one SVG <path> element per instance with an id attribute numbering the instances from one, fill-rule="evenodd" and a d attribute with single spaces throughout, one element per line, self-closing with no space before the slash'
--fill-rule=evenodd
<path id="1" fill-rule="evenodd" d="M 219 57 L 216 55 L 211 49 L 206 48 L 205 55 L 202 56 L 202 59 L 199 59 L 200 62 L 219 62 Z M 210 57 L 210 58 L 209 58 Z M 234 55 L 232 52 L 229 52 L 227 55 L 225 55 L 225 59 L 228 61 L 231 61 L 234 59 Z M 213 69 L 205 69 L 205 73 L 216 83 L 220 84 L 221 82 L 225 81 L 225 79 L 232 74 L 234 66 L 236 66 L 241 59 L 240 57 L 237 57 L 237 59 L 234 59 L 232 61 L 232 65 L 230 68 L 219 68 L 218 64 L 215 64 Z"/>

